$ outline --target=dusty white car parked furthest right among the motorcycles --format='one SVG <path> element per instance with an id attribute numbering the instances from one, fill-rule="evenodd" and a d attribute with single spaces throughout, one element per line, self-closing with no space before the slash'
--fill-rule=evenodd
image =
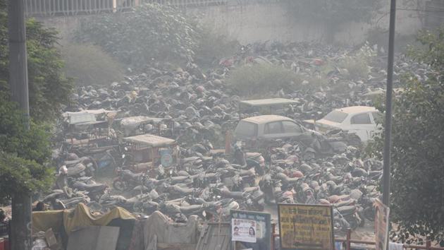
<path id="1" fill-rule="evenodd" d="M 362 142 L 369 141 L 377 133 L 382 118 L 381 112 L 375 107 L 353 106 L 335 109 L 323 119 L 305 120 L 312 124 L 315 131 L 326 132 L 341 129 L 349 133 L 356 133 Z"/>

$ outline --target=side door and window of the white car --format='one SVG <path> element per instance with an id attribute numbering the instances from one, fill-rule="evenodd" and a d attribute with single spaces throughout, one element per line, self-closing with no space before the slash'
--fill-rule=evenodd
<path id="1" fill-rule="evenodd" d="M 371 119 L 370 113 L 354 114 L 350 117 L 350 126 L 344 130 L 351 133 L 356 133 L 361 141 L 368 141 L 371 138 L 371 133 L 374 133 L 376 124 Z"/>

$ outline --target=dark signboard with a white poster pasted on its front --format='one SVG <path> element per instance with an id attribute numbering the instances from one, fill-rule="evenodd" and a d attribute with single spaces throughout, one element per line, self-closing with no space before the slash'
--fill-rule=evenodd
<path id="1" fill-rule="evenodd" d="M 231 210 L 231 240 L 252 250 L 271 249 L 271 215 Z"/>

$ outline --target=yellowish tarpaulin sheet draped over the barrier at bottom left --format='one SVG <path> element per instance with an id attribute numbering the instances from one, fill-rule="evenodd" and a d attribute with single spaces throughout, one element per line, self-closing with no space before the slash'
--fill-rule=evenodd
<path id="1" fill-rule="evenodd" d="M 64 227 L 67 234 L 75 228 L 87 226 L 106 226 L 114 219 L 135 220 L 130 212 L 123 208 L 113 208 L 104 215 L 93 215 L 85 204 L 79 203 L 74 209 L 54 210 L 32 213 L 33 232 L 46 231 L 49 228 Z"/>

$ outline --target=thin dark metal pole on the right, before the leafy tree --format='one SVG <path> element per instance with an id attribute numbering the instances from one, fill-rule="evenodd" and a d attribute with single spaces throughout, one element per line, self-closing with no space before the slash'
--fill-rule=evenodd
<path id="1" fill-rule="evenodd" d="M 390 208 L 390 150 L 392 148 L 392 93 L 393 61 L 395 57 L 396 0 L 390 0 L 390 26 L 388 30 L 388 65 L 386 89 L 386 126 L 384 128 L 383 203 Z M 390 220 L 388 221 L 388 223 Z M 388 232 L 386 232 L 388 239 Z M 388 249 L 388 241 L 386 245 Z"/>

